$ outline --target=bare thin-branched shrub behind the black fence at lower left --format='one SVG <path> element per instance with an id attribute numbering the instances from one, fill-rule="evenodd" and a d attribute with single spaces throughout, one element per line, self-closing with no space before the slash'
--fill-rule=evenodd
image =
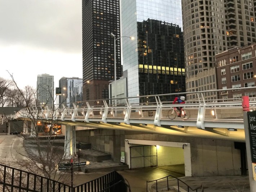
<path id="1" fill-rule="evenodd" d="M 16 86 L 15 95 L 13 97 L 14 103 L 18 104 L 18 99 L 15 97 L 23 98 L 25 102 L 23 106 L 27 107 L 26 113 L 19 113 L 21 120 L 26 120 L 24 122 L 29 122 L 25 126 L 28 127 L 29 132 L 32 133 L 31 136 L 22 134 L 19 137 L 24 139 L 28 145 L 34 147 L 35 153 L 30 153 L 26 156 L 29 161 L 17 161 L 16 163 L 21 169 L 25 169 L 34 174 L 42 175 L 49 179 L 54 179 L 62 183 L 70 184 L 70 176 L 65 172 L 58 171 L 56 165 L 65 161 L 64 149 L 59 150 L 58 146 L 55 146 L 55 138 L 52 135 L 52 127 L 48 133 L 45 132 L 45 126 L 59 124 L 58 120 L 54 118 L 53 114 L 58 112 L 58 106 L 33 106 L 34 101 L 36 101 L 35 91 L 30 87 L 26 86 L 26 91 L 18 88 L 13 76 L 11 75 L 14 85 Z M 54 95 L 52 95 L 52 90 L 48 89 L 50 96 L 53 101 Z M 57 114 L 59 115 L 59 114 Z M 68 141 L 69 142 L 69 141 Z M 64 146 L 64 143 L 63 143 Z"/>

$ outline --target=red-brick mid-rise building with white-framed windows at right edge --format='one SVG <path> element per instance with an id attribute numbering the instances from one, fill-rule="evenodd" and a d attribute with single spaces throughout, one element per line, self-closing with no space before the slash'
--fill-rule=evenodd
<path id="1" fill-rule="evenodd" d="M 240 99 L 242 96 L 256 97 L 255 89 L 239 89 L 254 87 L 256 83 L 256 44 L 243 48 L 235 47 L 216 55 L 219 94 L 226 99 Z M 237 88 L 237 90 L 226 90 Z"/>

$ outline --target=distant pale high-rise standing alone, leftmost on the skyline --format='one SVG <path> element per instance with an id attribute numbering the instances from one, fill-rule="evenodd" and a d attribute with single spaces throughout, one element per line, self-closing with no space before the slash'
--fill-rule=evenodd
<path id="1" fill-rule="evenodd" d="M 36 102 L 37 106 L 54 104 L 54 77 L 49 74 L 37 75 Z"/>

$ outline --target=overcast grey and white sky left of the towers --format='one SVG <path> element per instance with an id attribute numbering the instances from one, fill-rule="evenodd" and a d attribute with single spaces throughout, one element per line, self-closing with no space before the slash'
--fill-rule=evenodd
<path id="1" fill-rule="evenodd" d="M 0 0 L 0 77 L 36 88 L 37 75 L 82 78 L 81 0 Z"/>

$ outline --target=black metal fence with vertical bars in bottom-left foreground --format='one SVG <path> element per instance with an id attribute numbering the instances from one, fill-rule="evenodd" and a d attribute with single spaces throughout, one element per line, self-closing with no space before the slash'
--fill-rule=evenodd
<path id="1" fill-rule="evenodd" d="M 61 182 L 0 164 L 2 192 L 131 192 L 122 175 L 112 171 L 98 179 L 71 187 Z"/>

